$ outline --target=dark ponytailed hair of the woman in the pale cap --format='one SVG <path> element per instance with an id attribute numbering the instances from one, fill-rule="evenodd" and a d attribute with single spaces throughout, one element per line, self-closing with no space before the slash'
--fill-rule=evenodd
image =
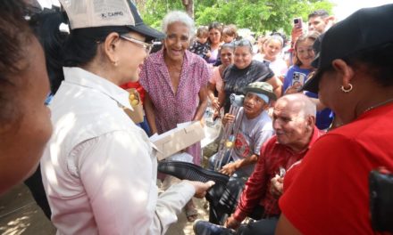
<path id="1" fill-rule="evenodd" d="M 71 33 L 63 32 L 59 27 L 68 21 L 67 16 L 56 7 L 36 13 L 30 21 L 44 48 L 51 93 L 57 92 L 64 79 L 63 66 L 86 65 L 96 56 L 97 45 L 104 42 L 106 36 L 112 32 L 130 32 L 126 27 L 78 28 Z"/>

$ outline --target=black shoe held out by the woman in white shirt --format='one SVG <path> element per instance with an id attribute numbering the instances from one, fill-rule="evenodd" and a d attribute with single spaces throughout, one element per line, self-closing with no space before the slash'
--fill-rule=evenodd
<path id="1" fill-rule="evenodd" d="M 210 190 L 207 190 L 206 199 L 213 204 L 217 204 L 225 191 L 230 176 L 221 174 L 212 170 L 207 170 L 188 162 L 181 161 L 160 161 L 158 162 L 158 171 L 163 174 L 170 174 L 180 180 L 208 182 L 213 181 L 215 184 Z"/>

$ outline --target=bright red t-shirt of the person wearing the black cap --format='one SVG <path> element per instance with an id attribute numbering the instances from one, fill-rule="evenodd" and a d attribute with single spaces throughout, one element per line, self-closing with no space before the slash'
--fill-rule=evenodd
<path id="1" fill-rule="evenodd" d="M 372 169 L 393 171 L 393 104 L 372 109 L 322 136 L 280 199 L 282 213 L 304 234 L 372 234 Z"/>

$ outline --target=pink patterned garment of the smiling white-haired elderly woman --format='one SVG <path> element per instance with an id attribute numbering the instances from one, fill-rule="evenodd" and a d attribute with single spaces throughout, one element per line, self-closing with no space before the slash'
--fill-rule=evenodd
<path id="1" fill-rule="evenodd" d="M 211 76 L 204 59 L 186 51 L 179 87 L 174 93 L 163 53 L 164 50 L 151 54 L 139 75 L 140 84 L 154 104 L 158 134 L 175 128 L 179 123 L 193 120 L 199 104 L 199 92 Z M 189 147 L 187 151 L 194 157 L 194 163 L 200 164 L 200 143 Z"/>

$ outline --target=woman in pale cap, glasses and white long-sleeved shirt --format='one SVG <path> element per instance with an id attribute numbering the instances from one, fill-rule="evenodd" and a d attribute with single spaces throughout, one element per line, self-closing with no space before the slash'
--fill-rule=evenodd
<path id="1" fill-rule="evenodd" d="M 126 0 L 61 1 L 70 36 L 64 80 L 50 104 L 54 134 L 41 160 L 58 234 L 163 234 L 212 182 L 180 182 L 158 196 L 157 160 L 124 112 L 139 67 L 163 34 Z"/>

